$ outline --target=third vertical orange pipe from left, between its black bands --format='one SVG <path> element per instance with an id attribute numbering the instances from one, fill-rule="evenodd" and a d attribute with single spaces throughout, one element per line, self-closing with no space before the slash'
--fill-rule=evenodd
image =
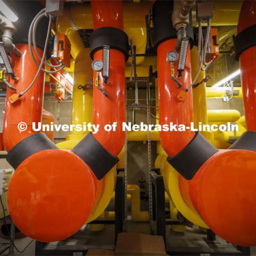
<path id="1" fill-rule="evenodd" d="M 159 99 L 159 124 L 170 125 L 186 124 L 190 126 L 193 122 L 193 101 L 192 90 L 187 94 L 187 100 L 179 101 L 177 95 L 185 90 L 191 83 L 190 70 L 190 51 L 188 51 L 186 60 L 186 69 L 183 71 L 180 82 L 181 89 L 171 79 L 170 63 L 166 62 L 167 52 L 175 48 L 176 39 L 169 39 L 157 47 L 157 68 L 158 72 L 158 99 Z M 174 63 L 174 69 L 177 70 L 178 63 Z M 160 132 L 160 141 L 165 152 L 171 157 L 177 155 L 185 148 L 195 133 L 191 131 L 172 131 Z M 170 142 L 172 147 L 170 147 Z"/>

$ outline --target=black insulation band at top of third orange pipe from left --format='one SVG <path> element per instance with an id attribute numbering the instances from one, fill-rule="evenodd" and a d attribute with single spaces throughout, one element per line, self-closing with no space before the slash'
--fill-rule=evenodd
<path id="1" fill-rule="evenodd" d="M 177 31 L 172 26 L 172 12 L 174 1 L 157 0 L 153 5 L 153 42 L 154 48 L 168 39 L 177 38 Z M 189 15 L 189 25 L 186 28 L 189 36 L 190 49 L 194 45 L 194 31 L 192 25 L 192 15 Z"/>

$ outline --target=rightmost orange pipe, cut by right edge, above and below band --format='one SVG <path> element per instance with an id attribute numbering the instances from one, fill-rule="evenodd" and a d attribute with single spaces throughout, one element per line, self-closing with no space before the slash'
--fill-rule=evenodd
<path id="1" fill-rule="evenodd" d="M 237 33 L 256 24 L 256 1 L 244 1 L 239 15 Z M 256 131 L 256 46 L 239 57 L 247 131 Z"/>

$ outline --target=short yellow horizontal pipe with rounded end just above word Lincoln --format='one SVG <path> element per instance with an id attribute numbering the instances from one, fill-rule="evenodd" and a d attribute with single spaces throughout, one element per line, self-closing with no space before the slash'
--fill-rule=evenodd
<path id="1" fill-rule="evenodd" d="M 240 117 L 235 109 L 207 110 L 209 122 L 236 122 Z"/>

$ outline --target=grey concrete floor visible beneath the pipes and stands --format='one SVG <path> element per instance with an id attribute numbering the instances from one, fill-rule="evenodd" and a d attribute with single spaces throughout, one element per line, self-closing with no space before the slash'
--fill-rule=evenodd
<path id="1" fill-rule="evenodd" d="M 149 234 L 148 223 L 135 223 L 127 222 L 128 232 L 137 232 L 142 234 Z M 226 243 L 221 238 L 217 237 L 216 243 L 207 243 L 206 234 L 203 233 L 198 227 L 187 228 L 185 233 L 174 233 L 170 227 L 166 228 L 167 236 L 167 250 L 168 251 L 180 251 L 183 247 L 183 251 L 195 252 L 236 252 L 233 245 Z M 0 239 L 0 243 L 4 239 Z M 6 241 L 6 240 L 5 240 Z M 29 242 L 30 238 L 21 238 L 15 241 L 19 250 L 22 250 Z M 7 241 L 6 241 L 7 242 Z M 89 227 L 86 227 L 83 231 L 78 231 L 73 237 L 66 239 L 65 241 L 50 243 L 47 245 L 47 249 L 114 249 L 114 226 L 106 225 L 105 229 L 101 231 L 90 231 Z M 184 250 L 186 247 L 186 250 Z M 1 255 L 7 255 L 7 251 Z M 15 252 L 15 255 L 35 255 L 35 242 L 27 248 L 23 253 Z M 211 254 L 202 254 L 211 255 Z M 225 253 L 223 255 L 226 255 Z M 251 255 L 256 256 L 256 247 L 251 248 Z"/>

